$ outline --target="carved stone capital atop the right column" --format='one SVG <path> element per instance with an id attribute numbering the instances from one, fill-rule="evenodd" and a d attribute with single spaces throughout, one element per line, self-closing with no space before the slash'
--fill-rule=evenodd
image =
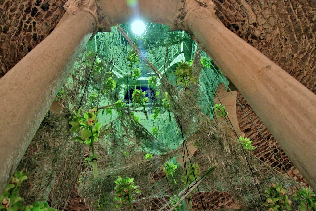
<path id="1" fill-rule="evenodd" d="M 185 30 L 190 31 L 187 27 L 187 16 L 196 10 L 207 10 L 210 16 L 217 19 L 215 15 L 215 4 L 210 0 L 180 0 L 178 11 L 175 13 L 173 27 L 171 30 Z"/>

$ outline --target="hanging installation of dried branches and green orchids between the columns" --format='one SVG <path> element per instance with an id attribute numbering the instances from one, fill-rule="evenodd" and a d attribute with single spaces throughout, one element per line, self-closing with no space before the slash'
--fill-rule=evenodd
<path id="1" fill-rule="evenodd" d="M 31 191 L 36 192 L 32 197 L 49 197 L 47 201 L 58 210 L 74 209 L 73 191 L 85 202 L 83 206 L 86 208 L 82 210 L 180 211 L 187 209 L 187 204 L 190 204 L 190 210 L 204 210 L 204 207 L 205 210 L 271 208 L 274 211 L 282 206 L 283 209 L 290 208 L 291 206 L 281 204 L 286 197 L 272 195 L 272 191 L 266 200 L 263 198 L 263 202 L 267 202 L 264 205 L 268 205 L 264 207 L 260 200 L 260 191 L 263 195 L 264 189 L 276 182 L 290 189 L 292 181 L 255 158 L 250 150 L 256 146 L 252 146 L 250 140 L 240 141 L 249 152 L 244 152 L 241 146 L 235 147 L 239 144 L 238 137 L 230 137 L 212 120 L 211 117 L 217 113 L 228 121 L 227 112 L 222 105 L 215 106 L 214 109 L 209 106 L 213 104 L 212 94 L 217 87 L 216 80 L 222 77 L 216 75 L 219 70 L 212 69 L 212 61 L 202 58 L 203 55 L 191 45 L 192 49 L 184 51 L 196 53 L 185 57 L 187 60 L 194 59 L 191 62 L 177 63 L 178 56 L 183 54 L 179 51 L 179 46 L 184 43 L 179 43 L 175 40 L 177 36 L 173 36 L 173 42 L 166 43 L 168 47 L 155 46 L 157 40 L 167 42 L 167 33 L 163 34 L 164 30 L 159 30 L 157 35 L 157 30 L 151 33 L 150 28 L 142 38 L 142 51 L 139 51 L 132 44 L 126 45 L 127 39 L 118 34 L 117 28 L 104 34 L 104 37 L 108 37 L 106 41 L 93 39 L 94 42 L 88 44 L 92 50 L 87 49 L 82 53 L 81 60 L 75 64 L 70 78 L 57 96 L 59 102 L 64 103 L 64 113 L 56 116 L 48 114 L 35 136 L 36 139 L 29 146 L 28 159 L 23 158 L 26 161 L 21 166 L 26 166 L 25 169 L 28 170 L 31 169 L 30 164 L 35 166 L 29 174 L 35 178 L 34 182 L 30 182 Z M 146 40 L 145 36 L 150 33 L 154 39 Z M 169 32 L 168 29 L 168 33 L 178 32 Z M 179 32 L 179 37 L 192 43 L 189 36 L 183 36 L 183 32 Z M 121 38 L 124 39 L 116 42 L 120 46 L 108 47 L 107 44 L 113 39 Z M 100 44 L 99 53 L 91 53 L 97 47 L 95 43 Z M 160 66 L 155 69 L 149 64 L 138 65 L 138 56 L 141 58 L 142 52 L 146 52 L 148 61 L 155 60 L 154 64 Z M 146 62 L 145 58 L 141 61 Z M 162 66 L 163 64 L 165 65 Z M 201 72 L 203 67 L 208 68 L 205 74 Z M 140 70 L 145 69 L 148 69 L 148 74 L 143 75 L 143 80 L 135 81 L 141 76 Z M 144 87 L 145 84 L 153 93 L 149 97 L 146 97 L 146 92 L 149 94 L 149 91 L 134 89 Z M 126 97 L 126 88 L 132 90 L 131 87 L 134 89 L 132 96 L 129 92 Z M 215 90 L 208 92 L 209 89 Z M 136 106 L 129 103 L 131 98 Z M 149 98 L 153 104 L 150 107 L 146 104 Z M 72 114 L 74 108 L 82 109 Z M 89 110 L 90 108 L 94 109 Z M 207 113 L 204 112 L 205 108 L 209 109 Z M 145 114 L 141 118 L 136 115 L 139 111 Z M 151 115 L 148 116 L 147 112 Z M 101 128 L 101 122 L 104 128 Z M 77 134 L 74 136 L 74 133 Z M 76 142 L 70 141 L 71 139 Z M 190 164 L 186 146 L 189 144 L 194 144 L 197 148 L 196 153 L 192 153 Z M 92 149 L 91 155 L 88 154 L 89 147 Z M 34 149 L 39 152 L 35 154 Z M 184 158 L 183 163 L 176 163 L 182 160 L 180 158 Z M 41 168 L 42 163 L 45 168 Z M 92 164 L 94 177 L 91 175 L 91 168 L 86 168 L 88 164 Z M 124 178 L 118 177 L 123 175 Z M 210 177 L 205 182 L 208 176 Z M 133 184 L 133 179 L 140 185 L 142 193 L 139 186 Z M 16 181 L 13 180 L 12 183 Z M 72 184 L 76 187 L 73 188 Z M 296 194 L 297 200 L 301 200 L 301 210 L 315 210 L 316 197 L 312 191 L 302 189 Z M 221 195 L 221 205 L 217 203 L 217 195 Z M 22 197 L 30 201 L 24 195 Z M 0 198 L 0 205 L 3 202 L 3 206 L 8 206 L 8 198 L 13 204 L 14 197 L 6 195 Z M 192 201 L 185 202 L 184 198 L 191 198 Z M 68 208 L 67 199 L 70 199 Z M 278 208 L 277 199 L 280 200 Z M 298 202 L 290 196 L 287 200 L 289 205 L 289 201 L 293 201 L 294 210 Z M 33 201 L 26 204 L 32 203 Z M 204 203 L 203 208 L 201 203 Z M 45 203 L 42 204 L 44 206 L 32 206 L 35 210 L 38 207 L 40 210 L 47 208 Z M 2 208 L 0 207 L 1 211 Z M 31 207 L 28 208 L 32 210 Z"/>

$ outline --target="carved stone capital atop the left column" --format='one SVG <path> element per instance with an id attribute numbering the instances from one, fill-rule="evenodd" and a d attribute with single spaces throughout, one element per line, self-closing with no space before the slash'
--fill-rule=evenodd
<path id="1" fill-rule="evenodd" d="M 82 10 L 92 14 L 97 25 L 94 34 L 98 31 L 111 31 L 111 27 L 106 20 L 106 14 L 101 0 L 68 0 L 65 3 L 64 8 L 69 15 L 73 15 L 76 11 Z"/>

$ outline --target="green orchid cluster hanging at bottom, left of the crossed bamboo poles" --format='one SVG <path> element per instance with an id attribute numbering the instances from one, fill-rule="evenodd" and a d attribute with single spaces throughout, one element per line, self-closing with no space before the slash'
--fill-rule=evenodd
<path id="1" fill-rule="evenodd" d="M 134 178 L 126 177 L 124 179 L 119 176 L 114 182 L 116 184 L 114 188 L 116 190 L 114 200 L 117 202 L 115 206 L 121 208 L 125 202 L 129 202 L 131 209 L 134 210 L 132 206 L 134 192 L 142 192 L 138 185 L 134 185 Z"/>

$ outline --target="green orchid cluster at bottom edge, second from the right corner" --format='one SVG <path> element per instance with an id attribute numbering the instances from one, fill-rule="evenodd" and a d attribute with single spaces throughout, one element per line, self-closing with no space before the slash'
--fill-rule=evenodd
<path id="1" fill-rule="evenodd" d="M 264 193 L 267 199 L 263 205 L 268 207 L 269 211 L 292 210 L 292 202 L 286 194 L 286 189 L 284 189 L 280 183 L 273 184 L 270 188 L 267 188 Z"/>

